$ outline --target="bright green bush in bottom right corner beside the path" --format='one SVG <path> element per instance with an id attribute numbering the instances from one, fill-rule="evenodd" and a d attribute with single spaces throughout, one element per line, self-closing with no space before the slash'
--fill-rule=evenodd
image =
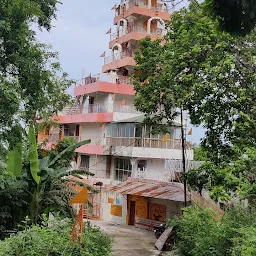
<path id="1" fill-rule="evenodd" d="M 214 217 L 211 209 L 189 207 L 175 225 L 180 256 L 255 255 L 255 209 L 232 208 L 220 220 Z"/>

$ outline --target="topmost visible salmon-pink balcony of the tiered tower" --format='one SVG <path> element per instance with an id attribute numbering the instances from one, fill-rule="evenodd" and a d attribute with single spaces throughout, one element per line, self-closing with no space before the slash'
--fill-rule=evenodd
<path id="1" fill-rule="evenodd" d="M 163 4 L 148 6 L 142 1 L 130 0 L 127 3 L 126 8 L 119 8 L 116 10 L 114 25 L 116 25 L 120 19 L 127 18 L 128 16 L 133 14 L 143 15 L 147 17 L 158 16 L 165 21 L 170 21 L 172 12 L 172 8 Z"/>

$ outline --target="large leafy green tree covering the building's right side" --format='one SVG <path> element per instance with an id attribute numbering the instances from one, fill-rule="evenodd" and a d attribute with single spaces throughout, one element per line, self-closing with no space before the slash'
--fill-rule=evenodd
<path id="1" fill-rule="evenodd" d="M 220 31 L 204 7 L 193 2 L 174 13 L 165 44 L 141 42 L 135 105 L 156 126 L 171 123 L 175 106 L 188 110 L 192 124 L 206 129 L 202 146 L 218 164 L 236 157 L 232 145 L 255 145 L 256 40 Z"/>

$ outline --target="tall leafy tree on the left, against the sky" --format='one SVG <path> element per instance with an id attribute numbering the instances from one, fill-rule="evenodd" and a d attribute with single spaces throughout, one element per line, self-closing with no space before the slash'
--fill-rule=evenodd
<path id="1" fill-rule="evenodd" d="M 0 0 L 0 139 L 10 144 L 20 140 L 21 122 L 47 118 L 69 101 L 65 90 L 71 81 L 32 29 L 51 29 L 57 3 Z"/>

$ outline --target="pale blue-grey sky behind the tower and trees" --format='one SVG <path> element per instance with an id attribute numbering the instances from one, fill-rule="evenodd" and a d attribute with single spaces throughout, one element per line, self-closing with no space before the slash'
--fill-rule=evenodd
<path id="1" fill-rule="evenodd" d="M 51 44 L 59 53 L 61 66 L 71 79 L 101 73 L 100 55 L 104 51 L 108 53 L 110 37 L 106 32 L 110 28 L 115 31 L 111 8 L 117 1 L 62 0 L 52 30 L 37 32 L 40 42 Z M 193 128 L 193 135 L 188 139 L 199 143 L 203 134 L 202 128 Z"/>

